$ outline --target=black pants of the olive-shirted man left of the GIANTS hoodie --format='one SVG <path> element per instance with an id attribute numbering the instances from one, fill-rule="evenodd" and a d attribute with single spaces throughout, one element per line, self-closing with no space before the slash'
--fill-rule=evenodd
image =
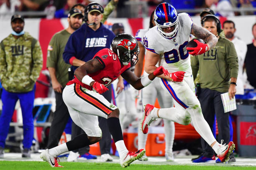
<path id="1" fill-rule="evenodd" d="M 63 91 L 64 88 L 62 88 L 61 90 Z M 54 117 L 51 122 L 49 140 L 46 147 L 48 149 L 58 146 L 61 135 L 70 117 L 69 110 L 63 101 L 62 93 L 55 92 L 55 98 L 56 98 L 56 110 L 54 112 Z M 82 132 L 84 133 L 84 131 L 81 128 L 79 128 L 77 125 L 74 124 L 74 127 L 73 127 L 73 124 L 74 122 L 72 122 L 72 135 L 71 135 L 72 139 L 77 135 L 80 135 Z M 79 154 L 83 155 L 84 153 L 88 153 L 89 150 L 90 150 L 90 146 L 80 148 Z"/>

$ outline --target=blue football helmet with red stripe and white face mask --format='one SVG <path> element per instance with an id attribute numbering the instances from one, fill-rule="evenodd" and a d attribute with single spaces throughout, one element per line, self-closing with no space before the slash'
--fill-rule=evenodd
<path id="1" fill-rule="evenodd" d="M 154 13 L 154 21 L 157 25 L 157 30 L 166 38 L 173 38 L 178 31 L 178 14 L 175 8 L 169 3 L 161 3 L 156 7 Z M 163 28 L 174 26 L 172 32 L 164 32 Z"/>

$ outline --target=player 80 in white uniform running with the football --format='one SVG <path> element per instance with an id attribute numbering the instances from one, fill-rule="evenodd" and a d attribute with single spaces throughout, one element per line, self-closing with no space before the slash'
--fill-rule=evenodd
<path id="1" fill-rule="evenodd" d="M 177 14 L 175 8 L 169 3 L 161 3 L 156 7 L 154 21 L 156 26 L 148 30 L 143 37 L 147 49 L 145 71 L 153 72 L 159 62 L 170 72 L 169 76 L 160 75 L 159 77 L 165 92 L 172 95 L 175 107 L 157 109 L 147 104 L 142 121 L 143 133 L 148 132 L 148 126 L 156 118 L 165 118 L 182 125 L 188 125 L 192 121 L 195 130 L 217 153 L 221 162 L 228 161 L 235 145 L 232 141 L 228 145 L 220 144 L 212 135 L 202 115 L 200 102 L 195 96 L 189 56 L 189 54 L 203 54 L 214 47 L 218 42 L 217 37 L 193 23 L 187 13 Z M 194 40 L 197 47 L 186 48 L 190 34 L 207 43 Z"/>

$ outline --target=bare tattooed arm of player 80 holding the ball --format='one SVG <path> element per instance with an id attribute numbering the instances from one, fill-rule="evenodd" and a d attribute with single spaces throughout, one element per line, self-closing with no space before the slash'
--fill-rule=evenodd
<path id="1" fill-rule="evenodd" d="M 215 35 L 213 35 L 210 31 L 206 30 L 205 28 L 196 25 L 195 23 L 193 23 L 192 25 L 191 34 L 207 42 L 209 48 L 215 47 L 215 45 L 218 42 L 218 38 Z"/>

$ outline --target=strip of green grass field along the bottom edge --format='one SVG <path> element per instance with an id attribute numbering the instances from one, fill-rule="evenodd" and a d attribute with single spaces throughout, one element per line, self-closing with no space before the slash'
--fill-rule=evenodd
<path id="1" fill-rule="evenodd" d="M 131 164 L 127 168 L 121 168 L 117 163 L 68 163 L 61 162 L 67 170 L 256 170 L 256 167 L 233 165 L 145 165 Z M 0 170 L 52 170 L 53 168 L 42 161 L 0 161 Z M 59 169 L 59 168 L 54 168 Z"/>

